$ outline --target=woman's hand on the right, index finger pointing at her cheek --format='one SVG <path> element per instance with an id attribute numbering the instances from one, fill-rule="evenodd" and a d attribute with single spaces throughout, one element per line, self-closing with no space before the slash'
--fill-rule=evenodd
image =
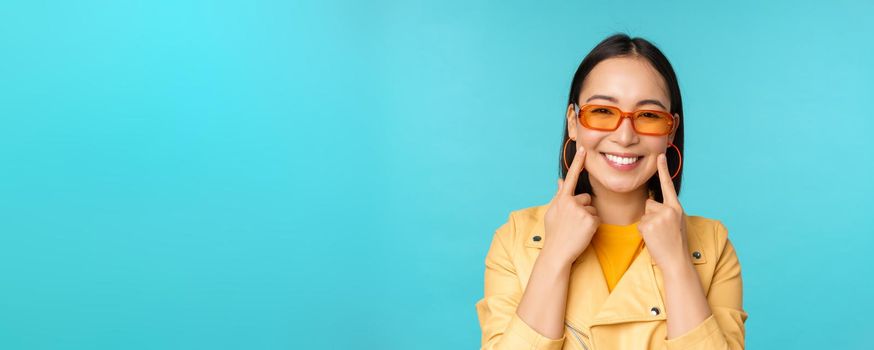
<path id="1" fill-rule="evenodd" d="M 686 222 L 683 207 L 668 172 L 665 154 L 658 155 L 657 167 L 664 203 L 646 200 L 646 209 L 637 229 L 643 236 L 650 255 L 661 269 L 680 267 L 689 263 Z"/>

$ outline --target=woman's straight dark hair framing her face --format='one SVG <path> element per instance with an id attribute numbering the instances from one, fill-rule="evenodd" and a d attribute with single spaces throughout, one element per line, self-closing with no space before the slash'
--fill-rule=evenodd
<path id="1" fill-rule="evenodd" d="M 580 62 L 580 66 L 577 68 L 576 74 L 574 74 L 574 80 L 571 82 L 571 92 L 568 95 L 568 103 L 564 106 L 564 111 L 567 112 L 568 105 L 578 103 L 577 99 L 579 98 L 580 91 L 582 90 L 583 81 L 592 71 L 592 68 L 595 67 L 601 61 L 604 61 L 608 58 L 613 57 L 640 57 L 646 59 L 656 71 L 665 79 L 665 83 L 668 87 L 669 97 L 671 99 L 671 114 L 676 113 L 680 116 L 679 125 L 677 126 L 676 134 L 674 135 L 674 145 L 683 152 L 683 101 L 680 98 L 680 85 L 677 82 L 677 76 L 674 74 L 674 68 L 671 67 L 671 63 L 668 61 L 668 58 L 659 50 L 655 45 L 647 41 L 643 38 L 631 38 L 626 34 L 614 34 L 601 41 L 585 58 Z M 558 157 L 558 168 L 559 173 L 561 174 L 561 178 L 565 178 L 567 176 L 567 169 L 565 168 L 564 157 L 567 158 L 567 164 L 570 164 L 573 161 L 574 154 L 576 154 L 576 141 L 571 140 L 567 147 L 567 153 L 562 154 L 564 152 L 565 142 L 568 140 L 568 129 L 567 129 L 567 118 L 565 119 L 565 127 L 564 127 L 564 136 L 561 140 L 561 150 L 559 151 Z M 673 147 L 669 147 L 673 148 Z M 670 171 L 675 171 L 679 166 L 679 157 L 676 152 L 671 151 L 670 149 L 665 152 L 668 157 L 668 169 Z M 680 182 L 683 178 L 683 171 L 680 169 L 680 173 L 676 178 L 673 179 L 674 188 L 677 190 L 677 194 L 680 194 Z M 662 202 L 662 189 L 659 184 L 658 172 L 656 172 L 648 181 L 646 186 L 651 190 L 654 194 L 655 200 Z M 588 193 L 594 195 L 592 192 L 592 184 L 589 182 L 589 173 L 587 170 L 583 169 L 582 173 L 580 173 L 579 181 L 577 182 L 577 187 L 574 190 L 574 194 Z"/>

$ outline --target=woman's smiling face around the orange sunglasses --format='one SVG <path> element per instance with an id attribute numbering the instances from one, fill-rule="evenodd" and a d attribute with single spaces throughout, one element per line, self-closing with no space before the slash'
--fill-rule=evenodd
<path id="1" fill-rule="evenodd" d="M 579 105 L 615 106 L 623 112 L 638 109 L 670 112 L 670 98 L 664 78 L 643 58 L 614 57 L 598 63 L 579 95 Z M 674 114 L 675 120 L 679 116 Z M 669 135 L 640 135 L 632 121 L 623 118 L 614 131 L 584 127 L 573 105 L 567 111 L 568 135 L 586 149 L 585 169 L 595 193 L 646 191 L 646 182 L 656 173 L 656 159 L 673 141 Z M 675 123 L 679 125 L 679 123 Z"/>

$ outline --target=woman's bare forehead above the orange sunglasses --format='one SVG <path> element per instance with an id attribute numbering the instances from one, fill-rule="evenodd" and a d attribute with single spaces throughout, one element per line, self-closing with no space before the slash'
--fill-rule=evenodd
<path id="1" fill-rule="evenodd" d="M 595 65 L 583 81 L 580 104 L 592 95 L 612 96 L 629 108 L 645 99 L 668 107 L 671 102 L 665 79 L 642 57 L 613 57 Z"/>

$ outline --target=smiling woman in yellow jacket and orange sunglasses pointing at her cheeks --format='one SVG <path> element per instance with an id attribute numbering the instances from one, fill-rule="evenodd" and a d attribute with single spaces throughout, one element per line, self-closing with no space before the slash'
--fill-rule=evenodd
<path id="1" fill-rule="evenodd" d="M 683 118 L 674 70 L 650 42 L 613 35 L 583 59 L 564 180 L 548 204 L 510 213 L 486 256 L 483 349 L 744 347 L 727 231 L 677 199 Z"/>

